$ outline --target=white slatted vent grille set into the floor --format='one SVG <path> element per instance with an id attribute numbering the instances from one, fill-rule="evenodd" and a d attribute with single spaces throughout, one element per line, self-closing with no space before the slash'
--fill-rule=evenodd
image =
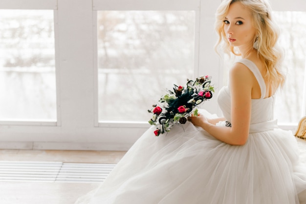
<path id="1" fill-rule="evenodd" d="M 0 161 L 0 181 L 102 182 L 116 164 Z"/>

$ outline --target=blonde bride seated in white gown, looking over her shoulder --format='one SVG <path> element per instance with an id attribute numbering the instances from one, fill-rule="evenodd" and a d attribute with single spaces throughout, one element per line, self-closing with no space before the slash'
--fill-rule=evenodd
<path id="1" fill-rule="evenodd" d="M 224 0 L 216 29 L 218 45 L 241 56 L 219 91 L 224 117 L 201 110 L 184 131 L 150 128 L 78 204 L 306 204 L 297 141 L 273 118 L 284 75 L 268 3 Z"/>

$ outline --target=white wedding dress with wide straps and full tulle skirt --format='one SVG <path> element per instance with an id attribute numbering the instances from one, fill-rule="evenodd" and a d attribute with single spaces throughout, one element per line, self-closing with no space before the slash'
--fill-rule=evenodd
<path id="1" fill-rule="evenodd" d="M 152 127 L 100 187 L 77 203 L 299 204 L 298 194 L 306 196 L 306 166 L 299 162 L 296 138 L 273 120 L 275 97 L 263 98 L 265 84 L 255 64 L 239 62 L 254 73 L 262 91 L 261 99 L 252 99 L 245 145 L 221 142 L 190 122 L 158 137 Z M 218 103 L 230 121 L 228 87 L 219 91 Z"/>

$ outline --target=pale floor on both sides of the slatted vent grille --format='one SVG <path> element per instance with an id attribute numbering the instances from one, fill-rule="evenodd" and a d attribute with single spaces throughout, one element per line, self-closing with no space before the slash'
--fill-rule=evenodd
<path id="1" fill-rule="evenodd" d="M 301 160 L 306 164 L 306 140 L 299 139 Z M 126 152 L 0 150 L 0 162 L 117 163 Z M 1 167 L 0 163 L 0 167 Z M 1 178 L 1 173 L 0 173 Z M 1 181 L 0 204 L 74 204 L 99 182 Z"/>

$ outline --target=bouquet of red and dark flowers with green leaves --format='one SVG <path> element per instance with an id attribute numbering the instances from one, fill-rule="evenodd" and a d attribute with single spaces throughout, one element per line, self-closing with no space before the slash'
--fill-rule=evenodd
<path id="1" fill-rule="evenodd" d="M 174 124 L 185 124 L 187 118 L 194 113 L 204 101 L 213 97 L 214 87 L 211 85 L 211 76 L 200 76 L 195 81 L 187 79 L 186 87 L 174 85 L 174 91 L 167 91 L 154 104 L 149 113 L 153 113 L 149 120 L 156 126 L 155 136 L 169 132 Z"/>

